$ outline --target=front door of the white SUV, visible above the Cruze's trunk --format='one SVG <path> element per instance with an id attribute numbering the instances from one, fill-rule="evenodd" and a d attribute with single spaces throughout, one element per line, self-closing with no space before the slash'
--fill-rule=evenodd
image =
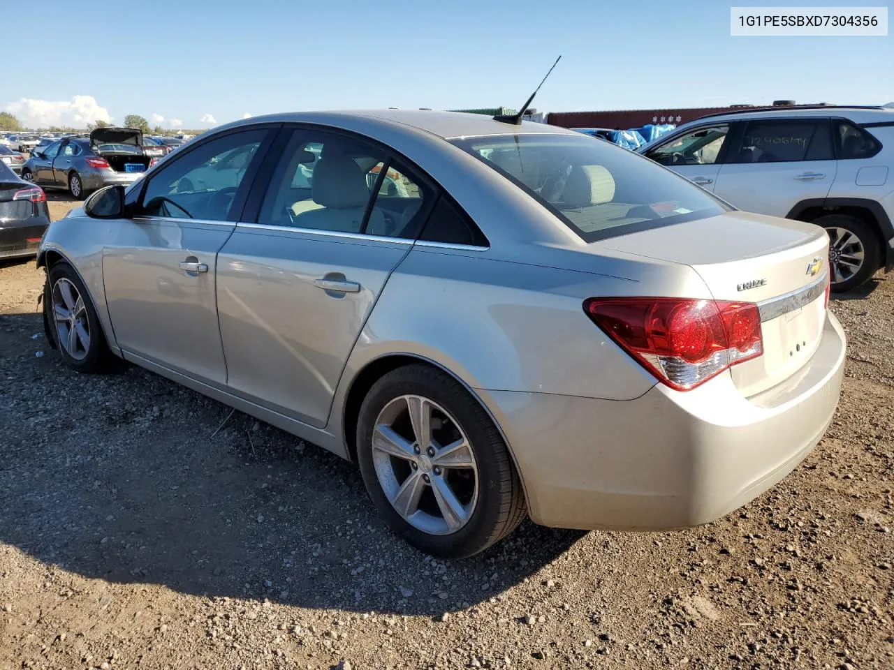
<path id="1" fill-rule="evenodd" d="M 645 155 L 713 191 L 729 135 L 729 123 L 705 124 L 671 135 L 647 150 Z"/>

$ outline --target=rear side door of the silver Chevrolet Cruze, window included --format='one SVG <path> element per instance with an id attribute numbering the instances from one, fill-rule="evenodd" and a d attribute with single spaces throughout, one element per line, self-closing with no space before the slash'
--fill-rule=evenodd
<path id="1" fill-rule="evenodd" d="M 218 256 L 227 386 L 323 427 L 354 342 L 434 189 L 362 139 L 283 132 L 257 215 L 249 217 L 249 204 L 249 222 L 237 224 Z M 402 188 L 384 188 L 386 174 Z"/>

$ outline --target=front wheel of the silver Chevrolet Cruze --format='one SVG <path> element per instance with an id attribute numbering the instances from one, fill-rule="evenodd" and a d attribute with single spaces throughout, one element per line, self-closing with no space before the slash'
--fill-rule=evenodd
<path id="1" fill-rule="evenodd" d="M 63 362 L 80 373 L 97 373 L 114 362 L 96 307 L 78 273 L 57 263 L 47 273 L 44 314 Z"/>

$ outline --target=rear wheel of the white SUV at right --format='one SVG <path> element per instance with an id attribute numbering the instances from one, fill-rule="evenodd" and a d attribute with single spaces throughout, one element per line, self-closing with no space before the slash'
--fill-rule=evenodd
<path id="1" fill-rule="evenodd" d="M 829 235 L 831 289 L 856 289 L 881 266 L 881 245 L 868 224 L 847 214 L 829 214 L 814 220 Z"/>

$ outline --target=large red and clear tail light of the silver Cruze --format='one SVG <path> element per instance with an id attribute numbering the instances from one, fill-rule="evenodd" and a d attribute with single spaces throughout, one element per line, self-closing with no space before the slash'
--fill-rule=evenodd
<path id="1" fill-rule="evenodd" d="M 591 297 L 587 316 L 672 389 L 695 389 L 763 354 L 753 303 L 678 297 Z"/>

